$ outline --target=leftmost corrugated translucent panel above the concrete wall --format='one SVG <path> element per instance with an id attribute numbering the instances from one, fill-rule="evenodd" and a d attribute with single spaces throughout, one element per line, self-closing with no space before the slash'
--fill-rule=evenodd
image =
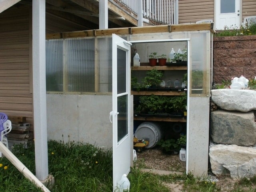
<path id="1" fill-rule="evenodd" d="M 46 90 L 63 91 L 63 40 L 46 41 Z"/>

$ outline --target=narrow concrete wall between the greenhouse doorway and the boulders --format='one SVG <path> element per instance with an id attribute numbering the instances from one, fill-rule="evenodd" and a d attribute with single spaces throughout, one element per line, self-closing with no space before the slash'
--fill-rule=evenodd
<path id="1" fill-rule="evenodd" d="M 187 172 L 204 177 L 208 170 L 209 148 L 208 97 L 190 97 L 187 130 Z"/>

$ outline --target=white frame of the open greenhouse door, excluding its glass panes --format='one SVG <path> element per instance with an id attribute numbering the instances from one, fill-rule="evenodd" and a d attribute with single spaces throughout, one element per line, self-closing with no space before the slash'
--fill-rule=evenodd
<path id="1" fill-rule="evenodd" d="M 126 52 L 126 90 L 122 93 L 118 93 L 118 49 Z M 131 128 L 131 113 L 130 113 L 130 43 L 120 38 L 116 34 L 112 34 L 112 115 L 113 118 L 113 191 L 115 191 L 117 182 L 121 179 L 123 174 L 130 172 L 131 166 L 131 154 L 132 144 L 131 137 L 133 128 Z M 121 96 L 127 96 L 127 115 L 126 115 L 126 127 L 127 132 L 120 140 L 118 140 L 118 98 Z"/>

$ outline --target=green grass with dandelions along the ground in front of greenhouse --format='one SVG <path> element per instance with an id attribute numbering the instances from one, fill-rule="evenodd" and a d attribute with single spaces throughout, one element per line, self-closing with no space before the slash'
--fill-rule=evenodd
<path id="1" fill-rule="evenodd" d="M 34 145 L 24 149 L 15 146 L 13 153 L 35 174 Z M 112 192 L 112 151 L 90 144 L 57 141 L 48 142 L 49 173 L 55 178 L 51 192 Z M 142 165 L 143 166 L 143 165 Z M 130 192 L 217 192 L 220 185 L 208 180 L 199 180 L 192 175 L 159 176 L 142 172 L 140 166 L 132 167 Z M 171 187 L 170 187 L 170 184 Z M 255 192 L 256 177 L 241 179 L 232 187 L 232 192 Z M 181 185 L 179 190 L 172 187 Z M 0 158 L 0 191 L 40 192 L 27 180 L 7 158 Z"/>

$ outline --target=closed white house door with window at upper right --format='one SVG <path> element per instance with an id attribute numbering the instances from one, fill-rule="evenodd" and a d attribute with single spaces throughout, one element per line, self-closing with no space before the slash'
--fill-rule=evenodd
<path id="1" fill-rule="evenodd" d="M 240 0 L 215 0 L 214 25 L 216 30 L 240 28 Z"/>

